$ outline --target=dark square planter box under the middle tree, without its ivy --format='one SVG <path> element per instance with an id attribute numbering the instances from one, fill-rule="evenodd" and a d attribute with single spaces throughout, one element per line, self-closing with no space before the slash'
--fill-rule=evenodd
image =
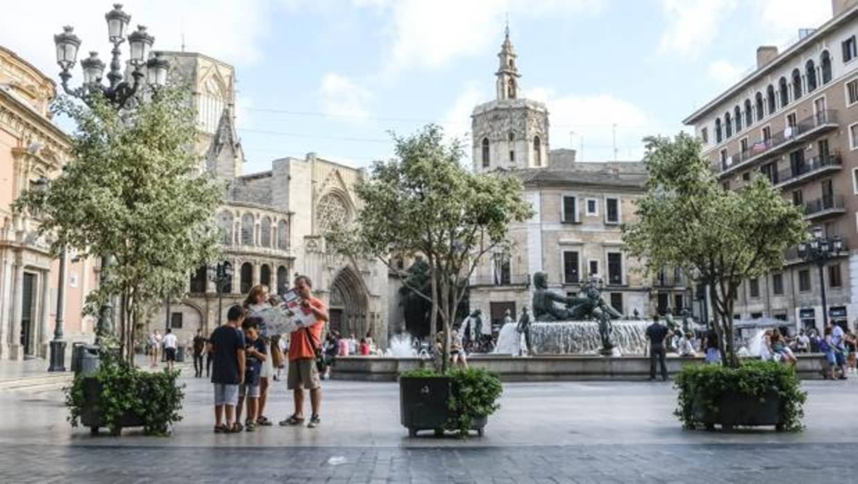
<path id="1" fill-rule="evenodd" d="M 444 424 L 450 418 L 450 391 L 450 378 L 446 376 L 399 378 L 399 415 L 402 426 L 408 428 L 408 436 L 416 437 L 420 430 L 444 433 Z M 487 421 L 486 417 L 474 419 L 471 430 L 482 437 Z"/>

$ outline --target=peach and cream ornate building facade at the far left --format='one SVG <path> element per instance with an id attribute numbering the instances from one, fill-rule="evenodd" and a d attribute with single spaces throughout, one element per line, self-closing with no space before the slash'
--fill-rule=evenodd
<path id="1" fill-rule="evenodd" d="M 57 288 L 64 284 L 64 339 L 91 342 L 94 320 L 82 314 L 89 291 L 98 287 L 91 259 L 59 261 L 48 254 L 38 220 L 16 214 L 12 204 L 39 178 L 59 176 L 69 160 L 69 140 L 51 122 L 56 94 L 51 78 L 15 52 L 0 46 L 0 359 L 46 357 L 57 317 Z"/>

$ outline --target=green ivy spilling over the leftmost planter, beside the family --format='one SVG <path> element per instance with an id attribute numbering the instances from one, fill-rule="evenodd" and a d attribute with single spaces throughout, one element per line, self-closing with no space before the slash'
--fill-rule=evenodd
<path id="1" fill-rule="evenodd" d="M 100 420 L 115 431 L 121 427 L 124 415 L 136 415 L 143 422 L 143 433 L 167 435 L 172 423 L 182 420 L 184 385 L 176 385 L 178 370 L 158 373 L 144 372 L 114 356 L 101 353 L 100 367 L 93 376 L 100 384 Z M 69 423 L 77 427 L 88 407 L 87 377 L 78 375 L 65 388 L 65 404 L 69 408 Z"/>

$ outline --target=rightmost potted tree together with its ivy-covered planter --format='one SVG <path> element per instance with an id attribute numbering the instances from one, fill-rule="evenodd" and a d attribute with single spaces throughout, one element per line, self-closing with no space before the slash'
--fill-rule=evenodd
<path id="1" fill-rule="evenodd" d="M 740 362 L 733 321 L 742 284 L 780 269 L 787 249 L 807 239 L 801 208 L 765 176 L 725 189 L 689 134 L 646 141 L 647 192 L 636 200 L 637 221 L 623 228 L 623 241 L 651 276 L 676 268 L 707 287 L 723 365 L 684 368 L 676 414 L 689 428 L 800 429 L 805 394 L 794 369 Z"/>

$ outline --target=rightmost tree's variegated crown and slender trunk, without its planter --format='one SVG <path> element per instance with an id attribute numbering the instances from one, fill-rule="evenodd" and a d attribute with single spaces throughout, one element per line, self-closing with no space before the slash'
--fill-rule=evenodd
<path id="1" fill-rule="evenodd" d="M 740 284 L 783 266 L 784 253 L 807 238 L 801 208 L 784 200 L 765 176 L 737 190 L 722 188 L 697 139 L 646 140 L 647 192 L 623 240 L 654 276 L 681 267 L 709 285 L 722 361 L 738 367 L 733 307 Z"/>

